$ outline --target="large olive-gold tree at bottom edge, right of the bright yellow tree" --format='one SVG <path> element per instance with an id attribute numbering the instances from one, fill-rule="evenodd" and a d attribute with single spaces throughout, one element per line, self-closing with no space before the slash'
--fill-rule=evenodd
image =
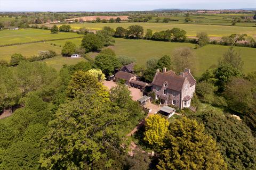
<path id="1" fill-rule="evenodd" d="M 203 124 L 184 117 L 170 124 L 158 169 L 227 169 L 215 141 Z"/>

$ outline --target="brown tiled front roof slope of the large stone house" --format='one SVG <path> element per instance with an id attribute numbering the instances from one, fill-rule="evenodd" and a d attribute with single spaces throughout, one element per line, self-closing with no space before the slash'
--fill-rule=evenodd
<path id="1" fill-rule="evenodd" d="M 166 72 L 166 73 L 156 73 L 152 84 L 156 86 L 163 86 L 164 82 L 166 81 L 168 86 L 167 89 L 181 91 L 183 83 L 186 78 L 180 77 L 176 75 L 174 72 Z"/>

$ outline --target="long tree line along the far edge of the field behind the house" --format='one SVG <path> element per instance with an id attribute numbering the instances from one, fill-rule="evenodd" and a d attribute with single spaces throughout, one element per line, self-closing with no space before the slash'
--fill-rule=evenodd
<path id="1" fill-rule="evenodd" d="M 109 29 L 111 29 L 109 27 Z M 103 30 L 105 30 L 103 28 Z M 111 29 L 113 30 L 113 29 Z M 256 41 L 253 37 L 247 37 L 247 35 L 234 34 L 228 37 L 222 37 L 221 41 L 210 41 L 209 36 L 205 32 L 197 33 L 196 39 L 188 39 L 185 30 L 180 28 L 173 28 L 171 30 L 163 30 L 159 32 L 154 32 L 148 29 L 144 33 L 143 27 L 140 25 L 131 25 L 129 28 L 124 29 L 123 27 L 117 27 L 115 32 L 111 33 L 111 36 L 117 38 L 131 38 L 131 39 L 150 39 L 156 41 L 171 41 L 171 42 L 186 42 L 197 44 L 196 48 L 203 47 L 207 44 L 218 44 L 218 45 L 235 45 L 235 46 L 245 46 L 245 47 L 256 47 Z M 109 30 L 107 30 L 109 31 Z M 111 31 L 112 32 L 112 31 Z M 247 37 L 247 38 L 246 38 Z M 239 41 L 244 41 L 244 43 L 238 43 Z"/>

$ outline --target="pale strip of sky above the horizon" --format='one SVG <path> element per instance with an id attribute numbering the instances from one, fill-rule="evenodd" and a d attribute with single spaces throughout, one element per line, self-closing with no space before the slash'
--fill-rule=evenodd
<path id="1" fill-rule="evenodd" d="M 256 0 L 0 0 L 0 11 L 147 11 L 256 8 Z"/>

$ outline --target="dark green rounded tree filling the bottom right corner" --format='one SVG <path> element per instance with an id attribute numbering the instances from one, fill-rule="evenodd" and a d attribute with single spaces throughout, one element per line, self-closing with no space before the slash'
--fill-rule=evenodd
<path id="1" fill-rule="evenodd" d="M 204 123 L 205 132 L 216 140 L 228 169 L 255 168 L 255 139 L 243 122 L 217 111 L 203 112 L 198 121 Z"/>

